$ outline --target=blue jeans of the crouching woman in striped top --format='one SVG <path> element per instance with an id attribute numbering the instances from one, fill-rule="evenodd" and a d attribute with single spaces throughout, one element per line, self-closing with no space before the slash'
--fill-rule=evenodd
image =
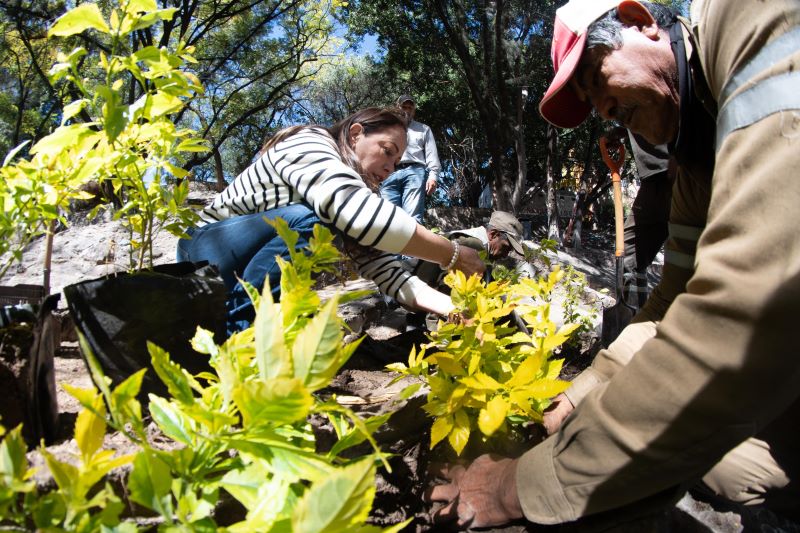
<path id="1" fill-rule="evenodd" d="M 293 204 L 193 228 L 191 239 L 178 241 L 178 261 L 208 261 L 219 268 L 228 288 L 228 335 L 246 329 L 255 318 L 255 309 L 236 276 L 250 283 L 259 292 L 264 279 L 275 300 L 280 298 L 281 271 L 275 256 L 289 260 L 289 249 L 272 226 L 264 221 L 282 218 L 299 233 L 297 248 L 303 248 L 313 235 L 316 213 L 305 204 Z"/>

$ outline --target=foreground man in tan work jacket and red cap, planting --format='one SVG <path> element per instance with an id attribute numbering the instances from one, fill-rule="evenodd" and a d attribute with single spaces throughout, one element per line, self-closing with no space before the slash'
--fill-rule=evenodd
<path id="1" fill-rule="evenodd" d="M 694 0 L 690 20 L 659 11 L 560 8 L 539 111 L 571 128 L 594 109 L 667 143 L 677 176 L 662 282 L 567 390 L 579 403 L 549 438 L 516 459 L 445 469 L 427 494 L 444 504 L 437 521 L 599 529 L 689 487 L 797 517 L 800 439 L 787 428 L 800 420 L 800 4 Z"/>

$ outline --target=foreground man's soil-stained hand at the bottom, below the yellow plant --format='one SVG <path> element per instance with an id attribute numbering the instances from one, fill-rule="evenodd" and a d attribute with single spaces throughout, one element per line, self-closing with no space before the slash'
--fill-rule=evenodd
<path id="1" fill-rule="evenodd" d="M 459 529 L 499 526 L 522 518 L 517 496 L 517 460 L 487 454 L 467 468 L 445 467 L 439 472 L 450 482 L 426 494 L 444 506 L 433 515 L 437 523 L 455 522 Z"/>

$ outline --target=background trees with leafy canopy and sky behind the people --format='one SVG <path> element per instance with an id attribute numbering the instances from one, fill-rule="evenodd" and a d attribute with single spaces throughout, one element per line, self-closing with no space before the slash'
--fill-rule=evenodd
<path id="1" fill-rule="evenodd" d="M 98 1 L 101 11 L 107 2 Z M 685 11 L 684 0 L 674 3 Z M 592 190 L 605 175 L 596 117 L 548 135 L 537 111 L 552 75 L 551 25 L 561 4 L 160 0 L 158 7 L 173 16 L 132 32 L 125 46 L 128 52 L 181 42 L 194 47 L 190 72 L 205 92 L 174 120 L 197 130 L 211 147 L 183 164 L 195 179 L 223 187 L 277 129 L 330 124 L 411 93 L 417 117 L 431 126 L 439 147 L 444 187 L 438 200 L 475 206 L 488 187 L 496 208 L 519 212 L 548 177 L 555 187 Z M 56 51 L 45 35 L 65 10 L 61 0 L 0 0 L 2 153 L 60 122 L 67 89 L 48 76 Z M 377 37 L 382 55 L 346 50 L 367 34 Z M 90 56 L 109 53 L 101 35 L 72 39 Z M 118 88 L 128 105 L 142 91 L 134 79 Z"/>

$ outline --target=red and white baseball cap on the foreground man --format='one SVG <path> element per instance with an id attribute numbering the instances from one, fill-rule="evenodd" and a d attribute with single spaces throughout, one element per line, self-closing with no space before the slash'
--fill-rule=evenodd
<path id="1" fill-rule="evenodd" d="M 550 50 L 555 77 L 539 102 L 539 113 L 552 125 L 574 128 L 589 116 L 592 106 L 579 100 L 567 82 L 583 55 L 589 25 L 621 1 L 570 0 L 556 11 Z"/>

